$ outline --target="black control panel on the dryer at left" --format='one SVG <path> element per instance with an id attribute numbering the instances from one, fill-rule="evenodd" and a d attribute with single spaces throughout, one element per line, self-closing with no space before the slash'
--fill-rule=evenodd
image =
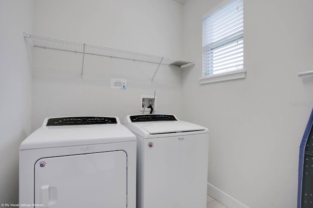
<path id="1" fill-rule="evenodd" d="M 113 117 L 62 117 L 48 119 L 48 125 L 95 125 L 95 124 L 117 124 Z"/>

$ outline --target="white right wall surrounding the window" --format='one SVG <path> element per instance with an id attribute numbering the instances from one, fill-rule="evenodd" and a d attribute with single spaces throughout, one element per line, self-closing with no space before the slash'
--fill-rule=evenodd
<path id="1" fill-rule="evenodd" d="M 182 74 L 183 118 L 210 129 L 209 185 L 251 208 L 295 208 L 312 106 L 290 102 L 313 102 L 313 77 L 297 77 L 313 70 L 313 1 L 245 0 L 246 79 L 200 85 L 201 17 L 220 2 L 183 7 L 184 56 L 198 63 Z"/>

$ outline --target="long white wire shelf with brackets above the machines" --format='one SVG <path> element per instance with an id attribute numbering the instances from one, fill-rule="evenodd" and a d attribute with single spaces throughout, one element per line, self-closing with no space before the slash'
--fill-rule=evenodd
<path id="1" fill-rule="evenodd" d="M 137 53 L 133 51 L 125 51 L 119 50 L 114 48 L 107 48 L 102 46 L 96 45 L 89 45 L 85 43 L 78 43 L 78 42 L 69 42 L 63 40 L 57 40 L 52 38 L 45 38 L 35 35 L 30 35 L 24 33 L 24 38 L 27 38 L 31 41 L 34 47 L 39 48 L 47 48 L 53 50 L 60 50 L 60 51 L 68 51 L 74 53 L 82 53 L 83 54 L 83 65 L 82 65 L 82 74 L 84 70 L 84 55 L 97 55 L 97 56 L 104 56 L 116 59 L 125 59 L 137 62 L 148 62 L 148 63 L 155 63 L 158 64 L 156 72 L 160 65 L 174 65 L 174 66 L 183 66 L 186 64 L 194 64 L 193 62 L 178 60 L 178 59 L 171 59 L 165 58 L 160 56 L 153 56 L 148 54 Z M 156 72 L 152 78 L 152 81 L 156 75 Z"/>

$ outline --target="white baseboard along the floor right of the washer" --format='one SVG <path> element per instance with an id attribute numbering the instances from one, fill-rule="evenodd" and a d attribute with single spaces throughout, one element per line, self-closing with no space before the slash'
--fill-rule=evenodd
<path id="1" fill-rule="evenodd" d="M 219 201 L 227 208 L 249 208 L 248 206 L 244 205 L 243 203 L 239 202 L 238 200 L 234 199 L 209 183 L 207 183 L 207 194 Z"/>

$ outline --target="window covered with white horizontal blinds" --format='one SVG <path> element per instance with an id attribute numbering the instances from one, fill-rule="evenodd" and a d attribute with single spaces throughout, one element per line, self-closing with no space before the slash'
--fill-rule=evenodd
<path id="1" fill-rule="evenodd" d="M 202 27 L 203 77 L 242 71 L 244 69 L 243 0 L 230 0 L 204 17 Z"/>

